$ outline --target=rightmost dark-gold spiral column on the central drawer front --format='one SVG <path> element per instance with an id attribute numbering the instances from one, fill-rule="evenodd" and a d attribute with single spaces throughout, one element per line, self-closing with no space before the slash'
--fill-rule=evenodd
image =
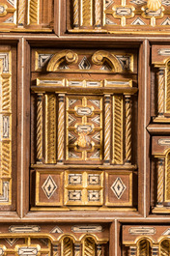
<path id="1" fill-rule="evenodd" d="M 131 163 L 131 96 L 126 96 L 126 163 Z"/>

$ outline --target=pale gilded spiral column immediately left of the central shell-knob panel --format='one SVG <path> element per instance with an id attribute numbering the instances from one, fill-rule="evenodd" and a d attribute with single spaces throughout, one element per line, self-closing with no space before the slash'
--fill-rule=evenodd
<path id="1" fill-rule="evenodd" d="M 58 113 L 58 164 L 64 160 L 64 120 L 65 120 L 65 95 L 59 94 Z"/>

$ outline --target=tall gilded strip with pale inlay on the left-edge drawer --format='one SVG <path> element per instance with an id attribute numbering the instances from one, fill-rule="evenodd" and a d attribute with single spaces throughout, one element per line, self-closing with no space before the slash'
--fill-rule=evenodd
<path id="1" fill-rule="evenodd" d="M 11 52 L 0 53 L 0 204 L 11 204 L 12 81 Z"/>

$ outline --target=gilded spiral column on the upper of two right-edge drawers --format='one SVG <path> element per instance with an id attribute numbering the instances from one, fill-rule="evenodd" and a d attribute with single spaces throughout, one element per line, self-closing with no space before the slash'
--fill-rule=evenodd
<path id="1" fill-rule="evenodd" d="M 164 113 L 164 80 L 165 80 L 164 69 L 160 68 L 158 72 L 158 96 L 157 96 L 158 115 L 162 115 Z"/>

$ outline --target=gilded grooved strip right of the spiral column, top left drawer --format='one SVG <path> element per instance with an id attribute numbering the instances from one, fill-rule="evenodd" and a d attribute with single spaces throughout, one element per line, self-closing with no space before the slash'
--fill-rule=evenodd
<path id="1" fill-rule="evenodd" d="M 39 0 L 30 0 L 29 6 L 29 23 L 39 23 Z"/>

